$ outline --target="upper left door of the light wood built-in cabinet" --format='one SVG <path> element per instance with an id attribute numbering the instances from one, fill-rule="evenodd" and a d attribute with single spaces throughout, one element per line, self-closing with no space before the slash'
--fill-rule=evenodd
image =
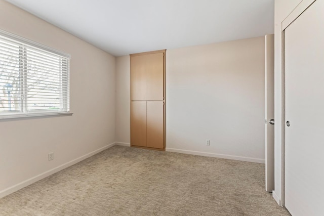
<path id="1" fill-rule="evenodd" d="M 131 100 L 146 100 L 146 55 L 131 56 Z"/>

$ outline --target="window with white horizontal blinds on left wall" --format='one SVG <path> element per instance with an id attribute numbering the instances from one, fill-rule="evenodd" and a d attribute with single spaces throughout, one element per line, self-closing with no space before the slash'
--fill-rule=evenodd
<path id="1" fill-rule="evenodd" d="M 0 118 L 69 112 L 69 55 L 0 31 Z"/>

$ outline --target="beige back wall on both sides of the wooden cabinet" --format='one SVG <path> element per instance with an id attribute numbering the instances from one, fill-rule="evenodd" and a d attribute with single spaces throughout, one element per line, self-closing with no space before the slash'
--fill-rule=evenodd
<path id="1" fill-rule="evenodd" d="M 264 52 L 264 37 L 167 50 L 167 151 L 264 162 Z M 129 64 L 117 58 L 116 141 L 128 144 Z"/>

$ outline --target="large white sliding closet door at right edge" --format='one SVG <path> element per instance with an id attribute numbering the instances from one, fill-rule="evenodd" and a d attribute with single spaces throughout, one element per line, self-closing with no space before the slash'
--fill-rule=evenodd
<path id="1" fill-rule="evenodd" d="M 285 30 L 285 206 L 324 215 L 324 0 Z"/>

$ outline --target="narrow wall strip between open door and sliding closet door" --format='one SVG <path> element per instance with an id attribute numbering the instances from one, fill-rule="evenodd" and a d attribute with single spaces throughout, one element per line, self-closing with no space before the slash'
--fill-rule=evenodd
<path id="1" fill-rule="evenodd" d="M 274 2 L 274 199 L 285 204 L 284 160 L 285 160 L 285 101 L 284 74 L 281 50 L 281 22 L 294 10 L 301 0 L 275 0 Z"/>

